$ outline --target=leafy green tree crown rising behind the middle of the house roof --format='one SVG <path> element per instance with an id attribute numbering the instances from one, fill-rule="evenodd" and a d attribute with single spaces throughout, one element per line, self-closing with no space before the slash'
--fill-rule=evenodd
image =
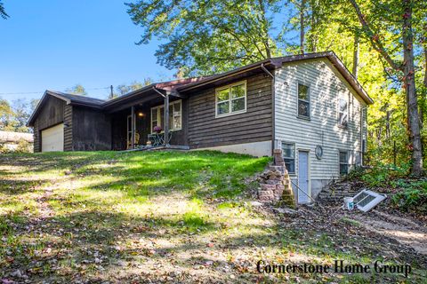
<path id="1" fill-rule="evenodd" d="M 166 39 L 156 56 L 168 68 L 204 75 L 278 55 L 270 31 L 270 12 L 279 1 L 266 0 L 138 0 L 127 4 L 141 26 L 141 43 L 153 36 Z"/>

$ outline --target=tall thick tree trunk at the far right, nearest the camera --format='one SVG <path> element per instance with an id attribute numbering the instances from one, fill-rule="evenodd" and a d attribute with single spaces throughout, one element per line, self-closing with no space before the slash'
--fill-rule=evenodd
<path id="1" fill-rule="evenodd" d="M 409 141 L 412 148 L 412 174 L 421 176 L 423 173 L 423 153 L 421 148 L 420 117 L 415 89 L 414 68 L 414 35 L 412 30 L 412 0 L 403 0 L 405 14 L 403 16 L 403 73 L 404 86 L 407 92 L 407 124 Z"/>

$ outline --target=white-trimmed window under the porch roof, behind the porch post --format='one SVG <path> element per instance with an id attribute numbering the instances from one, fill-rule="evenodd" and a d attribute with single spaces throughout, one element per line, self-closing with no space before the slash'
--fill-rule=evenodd
<path id="1" fill-rule="evenodd" d="M 151 107 L 151 133 L 156 126 L 165 129 L 165 105 Z M 182 104 L 181 99 L 169 104 L 169 130 L 182 129 Z"/>

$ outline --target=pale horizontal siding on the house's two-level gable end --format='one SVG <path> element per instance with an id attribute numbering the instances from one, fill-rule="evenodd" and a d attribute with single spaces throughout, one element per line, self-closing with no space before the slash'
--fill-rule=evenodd
<path id="1" fill-rule="evenodd" d="M 360 110 L 364 103 L 324 59 L 286 64 L 276 75 L 275 138 L 294 143 L 296 150 L 310 150 L 311 179 L 339 177 L 339 150 L 350 151 L 351 164 L 359 161 Z M 310 121 L 297 118 L 298 82 L 310 86 Z M 340 96 L 349 100 L 347 129 L 338 126 Z M 314 153 L 317 145 L 324 149 L 321 160 Z M 296 152 L 296 172 L 297 160 Z"/>

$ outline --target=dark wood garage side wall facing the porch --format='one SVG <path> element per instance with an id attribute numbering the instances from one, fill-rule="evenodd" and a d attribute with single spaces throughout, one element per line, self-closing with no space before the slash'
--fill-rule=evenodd
<path id="1" fill-rule="evenodd" d="M 109 114 L 93 108 L 73 106 L 72 141 L 74 151 L 111 150 Z"/>

